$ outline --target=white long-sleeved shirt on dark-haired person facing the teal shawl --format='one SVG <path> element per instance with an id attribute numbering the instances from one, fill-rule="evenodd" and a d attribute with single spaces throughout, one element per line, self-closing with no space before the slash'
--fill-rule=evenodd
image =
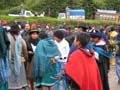
<path id="1" fill-rule="evenodd" d="M 57 44 L 58 49 L 60 51 L 60 54 L 61 54 L 60 58 L 62 58 L 62 59 L 59 58 L 58 61 L 59 62 L 66 62 L 67 58 L 68 58 L 69 51 L 70 51 L 70 47 L 69 47 L 68 41 L 63 39 L 61 42 L 58 43 L 57 41 L 55 41 L 55 43 Z"/>

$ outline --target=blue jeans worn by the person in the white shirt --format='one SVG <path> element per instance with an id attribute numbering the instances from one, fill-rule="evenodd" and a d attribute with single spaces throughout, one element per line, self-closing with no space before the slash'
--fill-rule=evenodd
<path id="1" fill-rule="evenodd" d="M 57 62 L 56 63 L 56 69 L 58 74 L 62 74 L 64 72 L 64 62 Z M 56 90 L 60 90 L 60 81 L 58 80 L 56 82 Z M 62 90 L 67 90 L 66 80 L 62 79 Z"/>

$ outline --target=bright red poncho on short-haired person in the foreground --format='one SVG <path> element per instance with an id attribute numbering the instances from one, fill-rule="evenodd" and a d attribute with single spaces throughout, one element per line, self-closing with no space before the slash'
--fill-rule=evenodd
<path id="1" fill-rule="evenodd" d="M 80 90 L 102 90 L 100 73 L 94 56 L 84 50 L 77 50 L 70 55 L 65 72 L 79 85 Z"/>

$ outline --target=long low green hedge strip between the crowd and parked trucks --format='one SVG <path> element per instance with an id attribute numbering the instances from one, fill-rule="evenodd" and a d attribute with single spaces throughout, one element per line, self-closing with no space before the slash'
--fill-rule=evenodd
<path id="1" fill-rule="evenodd" d="M 68 20 L 68 19 L 56 19 L 51 17 L 12 17 L 12 16 L 0 16 L 1 20 L 6 20 L 8 23 L 11 23 L 15 20 L 17 21 L 28 21 L 30 23 L 39 23 L 42 25 L 51 24 L 53 26 L 59 26 L 60 23 L 65 22 L 67 25 L 74 27 L 80 23 L 84 25 L 119 25 L 118 22 L 114 21 L 103 21 L 103 20 Z"/>

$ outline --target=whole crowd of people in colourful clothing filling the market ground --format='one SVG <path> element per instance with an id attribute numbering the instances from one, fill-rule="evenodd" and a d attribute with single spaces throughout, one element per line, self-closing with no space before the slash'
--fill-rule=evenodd
<path id="1" fill-rule="evenodd" d="M 119 26 L 1 22 L 0 40 L 0 90 L 110 90 L 113 55 L 120 84 Z"/>

